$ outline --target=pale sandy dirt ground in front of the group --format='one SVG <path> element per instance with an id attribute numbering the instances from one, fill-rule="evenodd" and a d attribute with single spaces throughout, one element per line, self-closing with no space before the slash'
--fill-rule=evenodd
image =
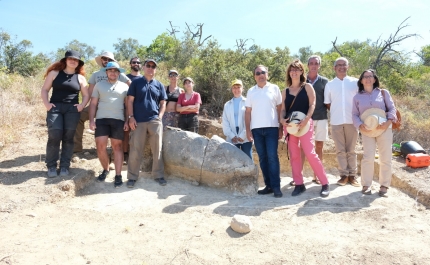
<path id="1" fill-rule="evenodd" d="M 134 189 L 94 181 L 100 165 L 93 135 L 63 180 L 46 178 L 46 129 L 28 128 L 0 152 L 0 264 L 429 264 L 430 211 L 396 188 L 381 198 L 307 178 L 291 197 L 236 197 L 167 176 L 142 173 Z M 422 174 L 428 177 L 426 171 Z M 83 189 L 67 180 L 89 179 Z M 123 171 L 125 179 L 125 168 Z M 428 178 L 427 178 L 428 183 Z M 377 184 L 375 183 L 375 189 Z M 235 214 L 253 229 L 229 228 Z"/>

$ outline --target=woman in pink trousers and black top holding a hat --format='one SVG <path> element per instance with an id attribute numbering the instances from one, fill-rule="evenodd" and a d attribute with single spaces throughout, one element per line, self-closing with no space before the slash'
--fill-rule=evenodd
<path id="1" fill-rule="evenodd" d="M 306 190 L 303 183 L 301 147 L 315 176 L 321 182 L 320 195 L 327 197 L 330 194 L 327 175 L 312 142 L 314 129 L 311 117 L 315 110 L 315 90 L 311 84 L 306 83 L 304 66 L 300 60 L 296 59 L 288 65 L 286 75 L 287 88 L 282 91 L 283 104 L 279 122 L 287 127 L 289 134 L 288 151 L 296 184 L 291 195 L 297 196 Z"/>

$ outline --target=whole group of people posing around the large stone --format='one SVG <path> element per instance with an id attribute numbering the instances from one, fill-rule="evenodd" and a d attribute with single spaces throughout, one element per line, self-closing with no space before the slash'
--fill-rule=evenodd
<path id="1" fill-rule="evenodd" d="M 200 94 L 194 81 L 183 79 L 178 86 L 177 70 L 168 72 L 169 85 L 155 79 L 157 62 L 130 60 L 131 72 L 125 75 L 114 56 L 104 52 L 96 57 L 101 69 L 93 73 L 89 84 L 85 79 L 84 62 L 75 51 L 47 69 L 42 87 L 42 100 L 47 109 L 48 143 L 46 165 L 48 177 L 56 177 L 60 159 L 60 176 L 69 174 L 73 152 L 82 151 L 85 121 L 95 131 L 97 155 L 103 167 L 98 176 L 104 181 L 109 173 L 108 139 L 114 152 L 114 186 L 123 184 L 121 167 L 128 164 L 127 186 L 132 188 L 139 177 L 143 149 L 149 141 L 152 155 L 152 176 L 166 185 L 161 154 L 163 131 L 167 126 L 198 133 Z M 282 92 L 270 83 L 268 68 L 258 65 L 254 71 L 256 85 L 243 96 L 239 79 L 231 83 L 233 98 L 225 103 L 222 125 L 226 141 L 241 149 L 250 159 L 252 144 L 257 151 L 265 187 L 258 194 L 273 193 L 282 197 L 278 140 L 287 139 L 288 154 L 295 186 L 292 196 L 306 190 L 303 181 L 304 158 L 314 171 L 314 182 L 321 184 L 320 195 L 330 194 L 323 166 L 323 145 L 328 138 L 328 110 L 331 134 L 339 164 L 339 185 L 360 186 L 356 180 L 358 131 L 363 139 L 361 185 L 363 194 L 371 194 L 373 160 L 376 146 L 381 160 L 379 195 L 385 196 L 391 182 L 391 123 L 396 109 L 390 93 L 379 88 L 375 71 L 364 71 L 359 79 L 347 76 L 348 60 L 340 57 L 334 63 L 336 77 L 328 81 L 318 74 L 321 57 L 308 59 L 308 73 L 300 60 L 286 69 L 286 89 Z M 143 75 L 140 71 L 143 70 Z M 48 93 L 52 88 L 52 96 Z M 82 101 L 79 104 L 79 93 Z M 89 106 L 86 105 L 89 102 Z M 61 145 L 61 155 L 59 154 Z"/>

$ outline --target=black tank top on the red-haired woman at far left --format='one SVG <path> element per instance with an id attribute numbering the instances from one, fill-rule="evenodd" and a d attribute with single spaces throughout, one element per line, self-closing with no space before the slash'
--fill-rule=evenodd
<path id="1" fill-rule="evenodd" d="M 52 81 L 52 96 L 49 102 L 79 104 L 80 90 L 78 74 L 68 75 L 64 71 L 59 71 Z"/>

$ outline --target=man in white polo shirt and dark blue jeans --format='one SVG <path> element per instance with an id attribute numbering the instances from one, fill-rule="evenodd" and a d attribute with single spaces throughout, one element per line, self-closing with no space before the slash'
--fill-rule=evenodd
<path id="1" fill-rule="evenodd" d="M 254 141 L 266 184 L 258 194 L 273 193 L 275 198 L 280 198 L 278 139 L 282 138 L 282 126 L 279 125 L 282 95 L 277 85 L 267 81 L 268 77 L 266 66 L 258 65 L 254 69 L 257 84 L 248 90 L 246 96 L 245 127 L 246 137 L 250 142 Z"/>

